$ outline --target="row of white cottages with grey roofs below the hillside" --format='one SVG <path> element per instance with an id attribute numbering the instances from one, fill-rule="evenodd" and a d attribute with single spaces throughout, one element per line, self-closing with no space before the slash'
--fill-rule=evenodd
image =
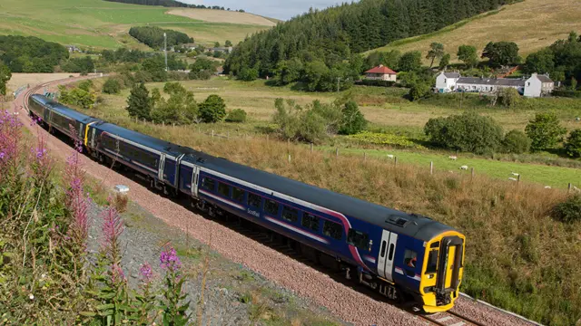
<path id="1" fill-rule="evenodd" d="M 448 77 L 448 75 L 450 77 Z M 495 92 L 514 88 L 527 97 L 547 96 L 553 91 L 554 82 L 546 75 L 533 73 L 528 79 L 461 77 L 458 72 L 441 72 L 436 78 L 436 91 Z"/>

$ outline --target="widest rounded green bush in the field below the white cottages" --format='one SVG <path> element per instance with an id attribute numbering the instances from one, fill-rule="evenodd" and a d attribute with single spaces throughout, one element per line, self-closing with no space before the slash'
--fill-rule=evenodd
<path id="1" fill-rule="evenodd" d="M 504 138 L 497 121 L 473 112 L 430 119 L 424 127 L 424 132 L 438 147 L 475 154 L 497 151 Z"/>

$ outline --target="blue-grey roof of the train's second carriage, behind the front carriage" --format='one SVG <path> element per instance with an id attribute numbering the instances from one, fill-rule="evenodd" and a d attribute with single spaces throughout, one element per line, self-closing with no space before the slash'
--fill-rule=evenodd
<path id="1" fill-rule="evenodd" d="M 100 122 L 94 125 L 95 129 L 102 130 L 104 132 L 116 135 L 123 139 L 131 140 L 136 142 L 140 145 L 148 147 L 150 149 L 155 149 L 160 151 L 166 155 L 172 155 L 173 157 L 177 158 L 182 154 L 194 153 L 196 152 L 193 149 L 185 148 L 180 145 L 173 144 L 169 141 L 165 141 L 162 139 L 156 139 L 151 136 L 147 136 L 141 132 L 133 131 L 131 129 L 126 129 L 123 127 L 119 127 L 113 123 L 109 122 Z"/>

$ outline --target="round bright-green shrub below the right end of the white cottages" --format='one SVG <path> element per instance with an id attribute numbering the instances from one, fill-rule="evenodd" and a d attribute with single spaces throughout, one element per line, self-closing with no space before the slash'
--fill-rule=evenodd
<path id="1" fill-rule="evenodd" d="M 537 113 L 535 120 L 528 122 L 525 131 L 532 140 L 533 150 L 554 148 L 566 134 L 555 113 Z"/>

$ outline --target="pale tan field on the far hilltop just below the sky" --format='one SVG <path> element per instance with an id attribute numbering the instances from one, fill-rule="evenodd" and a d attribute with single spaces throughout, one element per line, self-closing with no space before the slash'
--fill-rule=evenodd
<path id="1" fill-rule="evenodd" d="M 167 14 L 175 14 L 182 17 L 188 17 L 210 23 L 253 24 L 262 26 L 276 25 L 271 20 L 256 14 L 222 10 L 177 8 L 171 9 L 167 12 Z"/>

